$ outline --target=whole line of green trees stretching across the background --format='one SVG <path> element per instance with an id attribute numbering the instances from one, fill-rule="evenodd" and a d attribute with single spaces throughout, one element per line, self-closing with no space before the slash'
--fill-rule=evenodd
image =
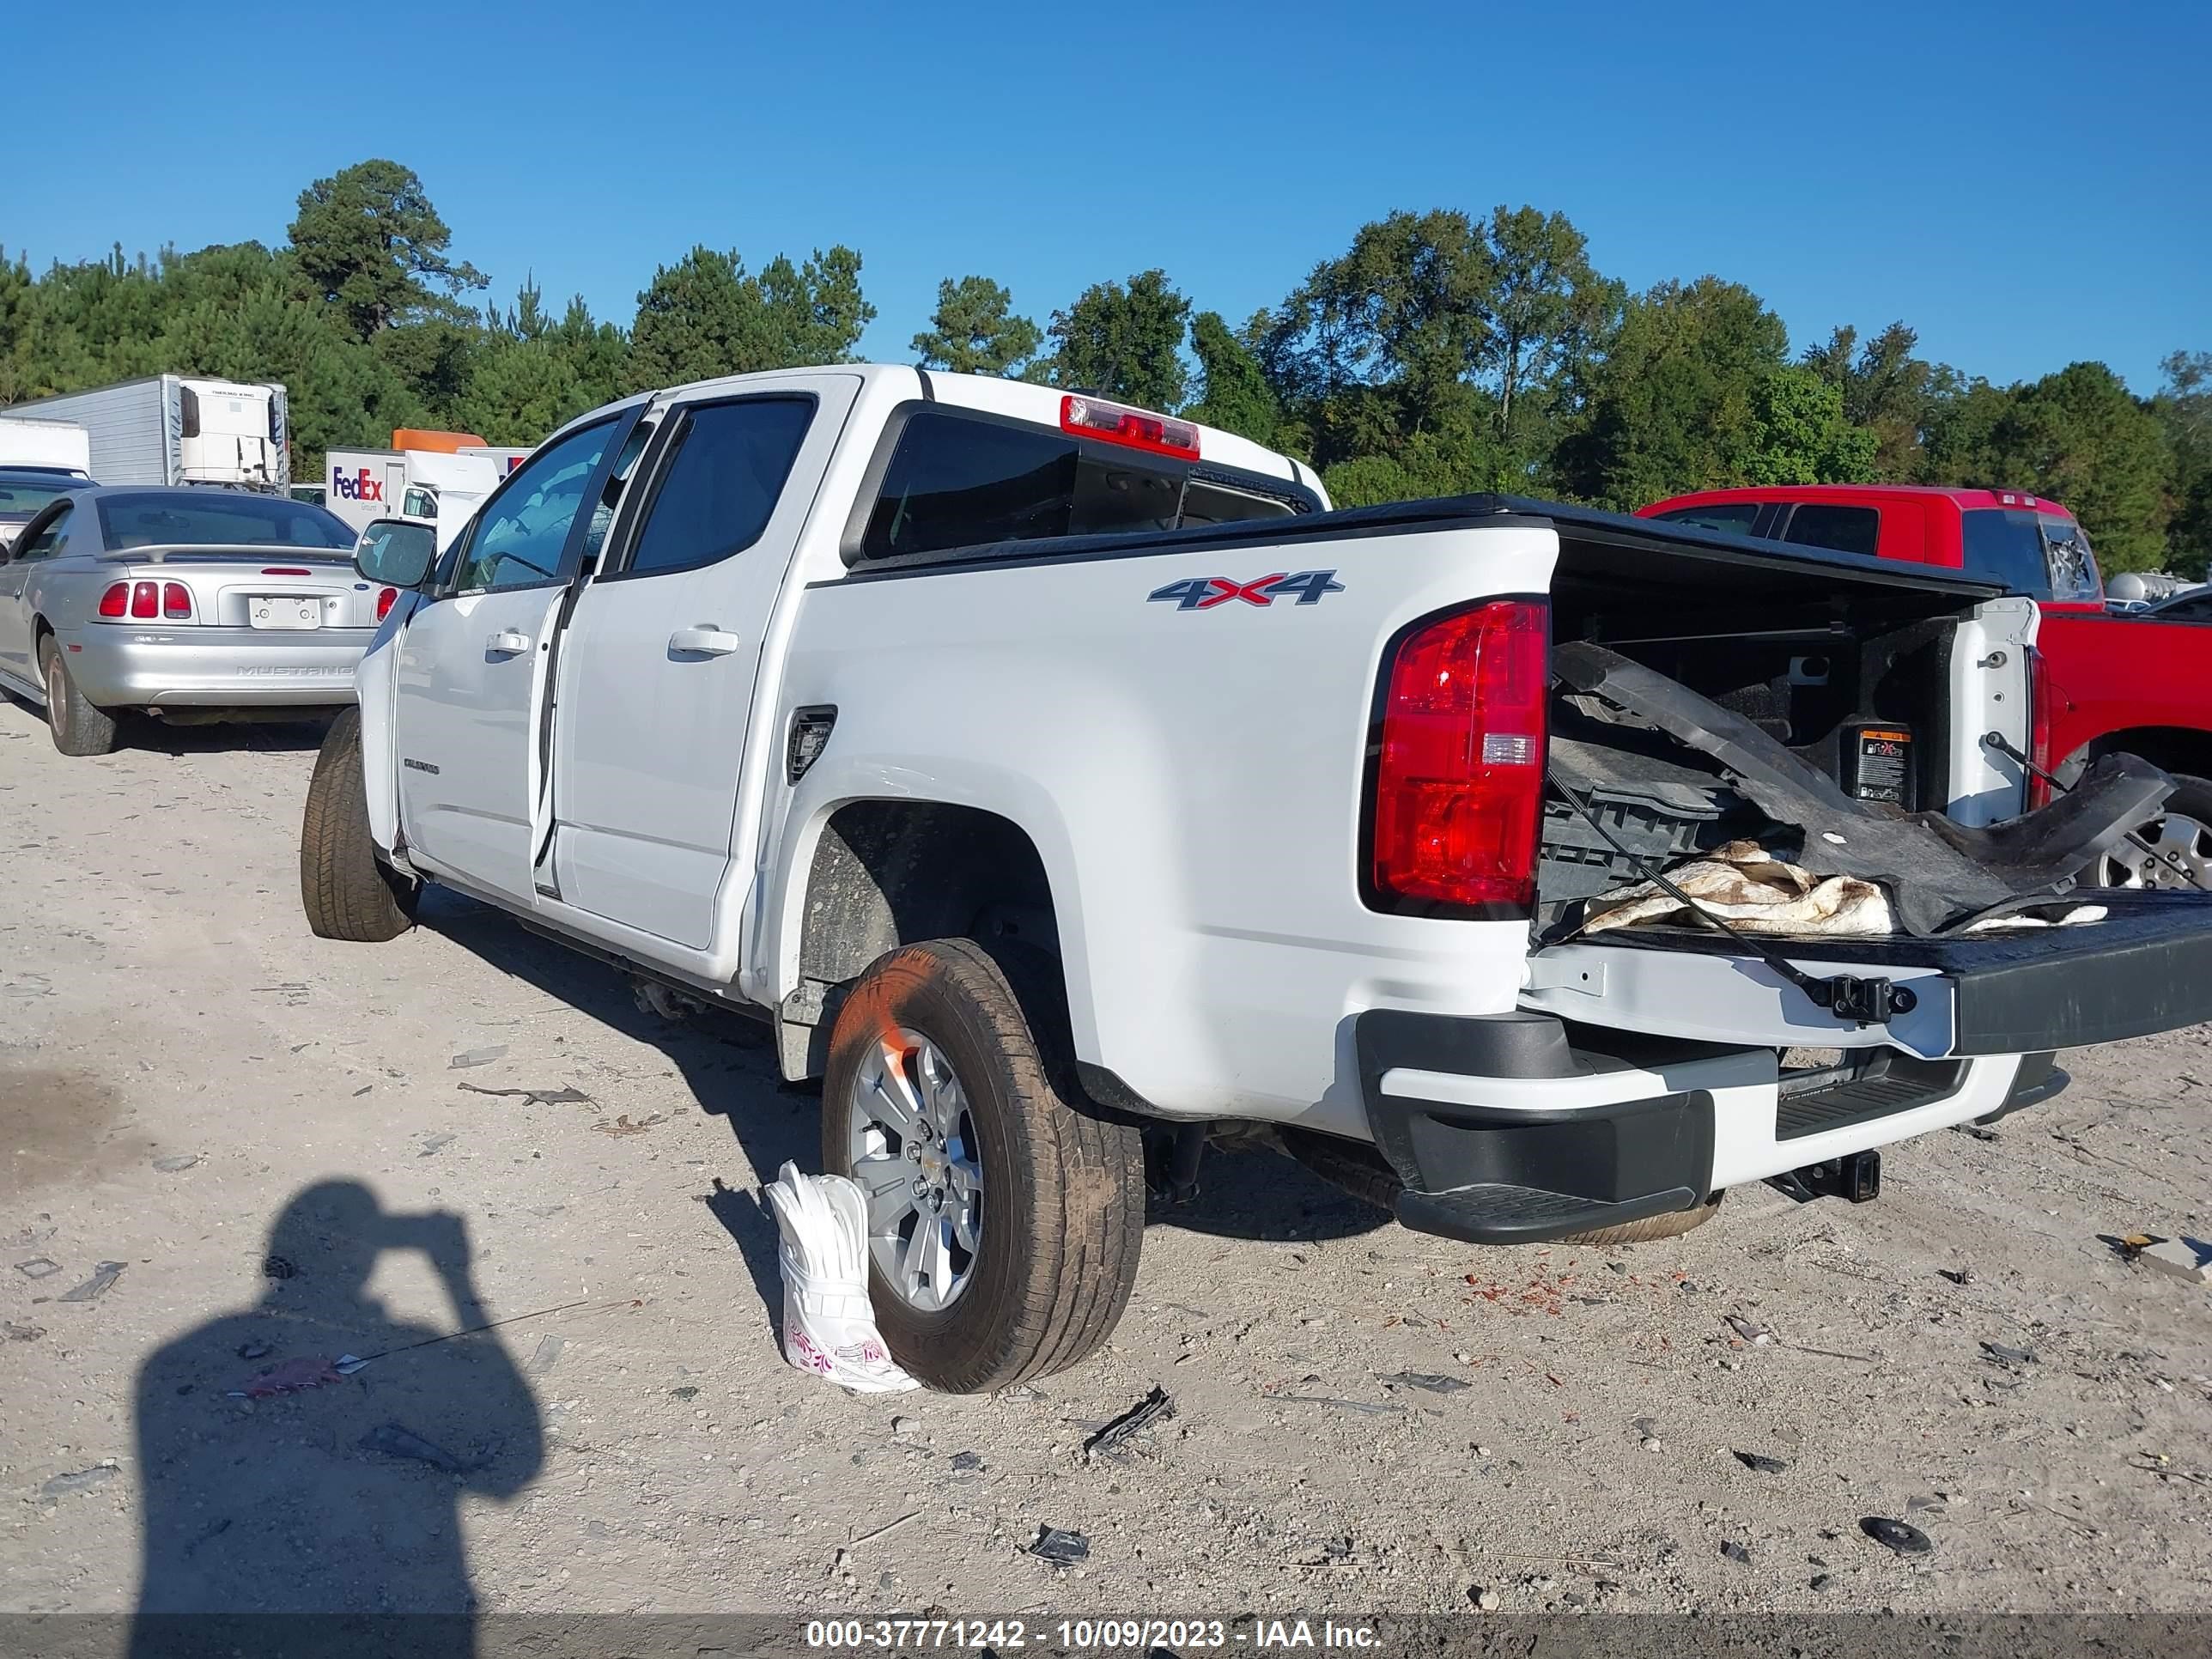
<path id="1" fill-rule="evenodd" d="M 482 303 L 451 243 L 420 179 L 376 159 L 310 184 L 281 248 L 117 246 L 40 274 L 0 254 L 0 405 L 181 372 L 283 380 L 303 465 L 394 427 L 520 445 L 626 392 L 852 361 L 876 316 L 843 246 L 759 270 L 697 246 L 622 327 L 580 296 L 555 314 L 535 279 Z M 1239 431 L 1312 462 L 1347 507 L 1989 484 L 2073 507 L 2106 571 L 2212 562 L 2212 352 L 2174 352 L 2150 398 L 2101 363 L 1993 385 L 1924 358 L 1902 321 L 1792 352 L 1741 283 L 1630 292 L 1535 208 L 1391 212 L 1241 325 L 1161 270 L 1095 283 L 1044 325 L 989 276 L 947 279 L 911 352 Z"/>

